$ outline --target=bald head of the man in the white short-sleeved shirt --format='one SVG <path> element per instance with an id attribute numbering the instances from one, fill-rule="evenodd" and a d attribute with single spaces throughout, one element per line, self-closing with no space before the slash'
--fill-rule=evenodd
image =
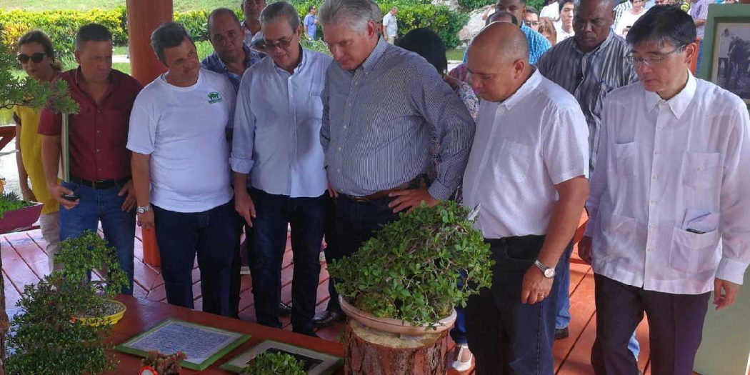
<path id="1" fill-rule="evenodd" d="M 469 45 L 468 56 L 471 86 L 484 101 L 504 101 L 532 74 L 526 35 L 512 23 L 484 27 Z"/>

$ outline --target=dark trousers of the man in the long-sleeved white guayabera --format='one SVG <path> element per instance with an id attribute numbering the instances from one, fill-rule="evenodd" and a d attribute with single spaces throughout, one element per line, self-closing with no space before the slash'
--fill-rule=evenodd
<path id="1" fill-rule="evenodd" d="M 595 374 L 638 373 L 628 341 L 643 313 L 649 317 L 651 373 L 692 374 L 711 293 L 660 293 L 596 274 L 594 281 L 596 341 L 591 364 Z"/>

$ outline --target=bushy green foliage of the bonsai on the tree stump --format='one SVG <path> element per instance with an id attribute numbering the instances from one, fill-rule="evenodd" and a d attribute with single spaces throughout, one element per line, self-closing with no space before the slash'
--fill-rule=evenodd
<path id="1" fill-rule="evenodd" d="M 336 290 L 375 317 L 420 326 L 448 317 L 490 287 L 489 245 L 456 202 L 422 205 L 387 224 L 352 257 L 329 266 Z M 463 287 L 458 287 L 465 271 Z"/>

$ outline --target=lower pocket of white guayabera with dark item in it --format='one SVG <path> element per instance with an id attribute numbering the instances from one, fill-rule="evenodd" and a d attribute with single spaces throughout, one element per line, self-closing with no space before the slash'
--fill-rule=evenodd
<path id="1" fill-rule="evenodd" d="M 672 230 L 670 266 L 677 271 L 693 274 L 715 268 L 719 237 L 718 230 L 691 233 L 675 227 Z"/>

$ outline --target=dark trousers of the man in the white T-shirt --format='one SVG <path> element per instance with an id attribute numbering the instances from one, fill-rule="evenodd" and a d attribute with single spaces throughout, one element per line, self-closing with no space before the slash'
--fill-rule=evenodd
<path id="1" fill-rule="evenodd" d="M 229 275 L 238 229 L 234 200 L 190 213 L 154 205 L 154 225 L 166 302 L 193 308 L 193 262 L 197 254 L 203 311 L 231 317 Z"/>

